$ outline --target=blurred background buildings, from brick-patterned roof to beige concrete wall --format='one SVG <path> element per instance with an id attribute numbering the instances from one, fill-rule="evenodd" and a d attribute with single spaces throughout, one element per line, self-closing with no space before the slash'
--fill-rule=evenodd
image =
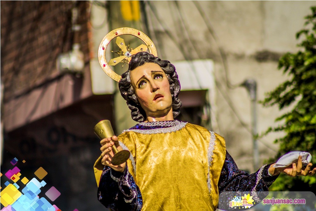
<path id="1" fill-rule="evenodd" d="M 40 166 L 48 172 L 46 183 L 62 195 L 54 202 L 61 210 L 106 210 L 96 197 L 92 168 L 100 146 L 93 127 L 109 119 L 119 134 L 136 124 L 97 58 L 103 37 L 120 27 L 143 31 L 158 56 L 175 65 L 179 119 L 225 137 L 237 165 L 256 171 L 252 120 L 260 134 L 280 112 L 256 103 L 252 113 L 244 82 L 253 79 L 263 100 L 285 80 L 277 61 L 297 50 L 295 33 L 315 3 L 1 1 L 1 171 L 15 157 L 26 160 L 25 174 Z M 124 39 L 137 47 L 135 39 Z M 107 50 L 115 57 L 115 43 Z M 259 165 L 276 154 L 276 136 L 258 140 Z"/>

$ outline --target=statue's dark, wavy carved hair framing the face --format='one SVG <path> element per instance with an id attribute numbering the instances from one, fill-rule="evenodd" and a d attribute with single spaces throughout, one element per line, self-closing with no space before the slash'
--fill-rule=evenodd
<path id="1" fill-rule="evenodd" d="M 147 52 L 139 52 L 132 56 L 128 71 L 122 74 L 122 79 L 119 81 L 119 90 L 122 97 L 126 100 L 128 108 L 131 109 L 132 119 L 138 122 L 146 120 L 146 113 L 138 102 L 138 99 L 132 87 L 131 71 L 147 62 L 158 64 L 165 72 L 170 84 L 173 118 L 177 117 L 180 114 L 179 109 L 182 103 L 178 98 L 180 92 L 180 82 L 178 79 L 176 68 L 167 60 L 161 60 L 158 57 L 155 57 L 154 55 Z"/>

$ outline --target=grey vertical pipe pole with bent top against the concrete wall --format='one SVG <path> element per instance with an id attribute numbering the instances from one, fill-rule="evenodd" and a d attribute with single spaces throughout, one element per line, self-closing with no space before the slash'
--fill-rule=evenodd
<path id="1" fill-rule="evenodd" d="M 259 149 L 257 140 L 257 82 L 254 79 L 246 79 L 241 86 L 245 87 L 251 100 L 251 133 L 253 144 L 253 169 L 259 168 Z"/>

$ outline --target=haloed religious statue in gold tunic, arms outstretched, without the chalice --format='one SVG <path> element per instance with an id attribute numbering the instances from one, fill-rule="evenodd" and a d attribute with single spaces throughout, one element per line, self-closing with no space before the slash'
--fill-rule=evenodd
<path id="1" fill-rule="evenodd" d="M 121 34 L 139 37 L 146 46 L 131 50 L 124 40 L 117 39 L 121 56 L 107 63 L 105 48 Z M 122 60 L 129 62 L 129 68 L 119 76 L 108 65 Z M 292 177 L 315 174 L 316 168 L 311 171 L 312 164 L 299 154 L 288 166 L 267 164 L 247 174 L 226 151 L 222 136 L 175 120 L 181 107 L 177 72 L 169 61 L 157 57 L 154 45 L 142 32 L 130 28 L 110 32 L 100 44 L 99 61 L 103 70 L 119 81 L 131 117 L 139 122 L 117 137 L 100 141 L 101 155 L 94 171 L 98 200 L 107 208 L 216 210 L 223 191 L 268 191 L 280 172 Z M 112 146 L 130 152 L 127 162 L 111 163 Z"/>

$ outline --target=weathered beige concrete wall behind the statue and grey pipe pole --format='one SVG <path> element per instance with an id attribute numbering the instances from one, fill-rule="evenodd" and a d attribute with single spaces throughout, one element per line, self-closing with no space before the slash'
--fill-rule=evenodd
<path id="1" fill-rule="evenodd" d="M 153 40 L 162 59 L 172 62 L 193 59 L 214 61 L 216 106 L 212 114 L 216 121 L 213 129 L 225 137 L 227 150 L 238 166 L 254 171 L 252 136 L 249 132 L 250 97 L 246 89 L 238 85 L 245 79 L 255 79 L 258 83 L 258 100 L 263 100 L 264 93 L 287 78 L 282 71 L 277 71 L 277 61 L 283 53 L 298 50 L 295 33 L 303 28 L 304 16 L 310 13 L 309 8 L 316 2 L 146 1 L 142 2 L 145 8 L 142 19 L 136 22 L 122 19 L 119 2 L 108 3 L 111 30 L 118 27 L 142 30 Z M 220 49 L 225 53 L 224 57 Z M 226 71 L 223 60 L 226 60 Z M 181 75 L 180 69 L 177 72 Z M 229 89 L 226 77 L 237 87 Z M 190 81 L 181 81 L 181 84 L 185 83 Z M 269 126 L 276 126 L 275 118 L 284 112 L 277 107 L 257 106 L 259 133 Z M 116 107 L 120 111 L 127 109 L 124 102 Z M 120 119 L 124 117 L 130 118 L 128 110 Z M 124 123 L 125 127 L 128 125 Z M 117 127 L 126 129 L 120 125 Z M 264 164 L 264 159 L 275 156 L 278 146 L 273 144 L 273 140 L 280 135 L 271 134 L 260 140 L 260 164 Z"/>

